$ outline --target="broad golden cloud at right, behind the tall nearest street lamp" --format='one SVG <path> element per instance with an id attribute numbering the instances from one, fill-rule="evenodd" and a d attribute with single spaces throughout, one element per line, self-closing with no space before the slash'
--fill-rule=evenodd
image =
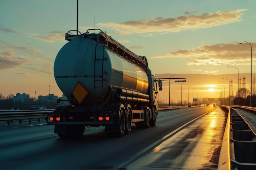
<path id="1" fill-rule="evenodd" d="M 251 44 L 252 46 L 256 46 L 256 43 Z M 250 56 L 250 46 L 246 47 L 241 44 L 215 44 L 199 46 L 197 49 L 191 50 L 181 49 L 150 58 L 191 58 L 192 61 L 187 62 L 188 65 L 238 65 L 237 63 L 249 65 Z M 243 63 L 240 61 L 243 61 Z"/>

